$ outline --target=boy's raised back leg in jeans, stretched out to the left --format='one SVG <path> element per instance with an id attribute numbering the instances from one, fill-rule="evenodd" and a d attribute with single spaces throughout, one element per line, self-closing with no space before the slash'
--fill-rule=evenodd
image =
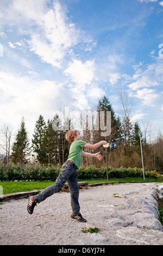
<path id="1" fill-rule="evenodd" d="M 57 180 L 55 183 L 47 188 L 45 190 L 41 191 L 39 194 L 34 196 L 34 199 L 36 203 L 41 203 L 43 200 L 45 200 L 47 197 L 52 196 L 55 192 L 58 192 L 61 190 L 62 186 L 64 186 L 67 179 L 72 175 L 72 173 L 76 170 L 74 165 L 71 163 L 65 162 L 62 165 L 60 174 L 58 175 Z"/>

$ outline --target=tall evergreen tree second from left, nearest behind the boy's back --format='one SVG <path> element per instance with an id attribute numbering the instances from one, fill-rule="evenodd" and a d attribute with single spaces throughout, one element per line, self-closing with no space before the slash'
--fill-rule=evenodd
<path id="1" fill-rule="evenodd" d="M 43 119 L 42 115 L 40 115 L 39 119 L 36 121 L 32 139 L 33 151 L 36 153 L 36 159 L 40 164 L 48 162 L 48 154 L 45 144 L 46 129 L 47 126 L 45 120 Z"/>

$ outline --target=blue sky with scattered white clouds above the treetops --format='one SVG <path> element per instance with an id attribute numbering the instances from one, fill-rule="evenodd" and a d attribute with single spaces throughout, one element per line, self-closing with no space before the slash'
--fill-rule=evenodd
<path id="1" fill-rule="evenodd" d="M 0 0 L 0 127 L 95 109 L 117 90 L 131 121 L 163 132 L 163 1 Z"/>

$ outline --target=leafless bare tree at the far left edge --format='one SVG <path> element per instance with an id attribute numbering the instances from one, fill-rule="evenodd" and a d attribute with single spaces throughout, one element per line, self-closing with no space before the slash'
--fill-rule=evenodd
<path id="1" fill-rule="evenodd" d="M 6 164 L 9 164 L 10 160 L 10 144 L 11 144 L 11 136 L 12 136 L 12 128 L 10 124 L 4 124 L 1 127 L 1 141 L 0 144 L 2 149 L 5 151 Z"/>

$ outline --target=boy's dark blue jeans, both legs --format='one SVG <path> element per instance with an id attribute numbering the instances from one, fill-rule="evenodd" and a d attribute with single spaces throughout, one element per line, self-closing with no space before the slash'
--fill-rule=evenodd
<path id="1" fill-rule="evenodd" d="M 47 197 L 52 196 L 52 194 L 61 190 L 62 186 L 64 186 L 65 182 L 67 181 L 67 185 L 70 190 L 71 196 L 71 207 L 72 207 L 72 214 L 78 215 L 80 214 L 80 205 L 79 205 L 79 186 L 78 186 L 78 178 L 77 178 L 77 166 L 72 162 L 65 162 L 62 165 L 60 174 L 56 179 L 55 183 L 45 190 L 41 191 L 37 194 L 34 198 L 37 203 L 41 203 Z"/>

